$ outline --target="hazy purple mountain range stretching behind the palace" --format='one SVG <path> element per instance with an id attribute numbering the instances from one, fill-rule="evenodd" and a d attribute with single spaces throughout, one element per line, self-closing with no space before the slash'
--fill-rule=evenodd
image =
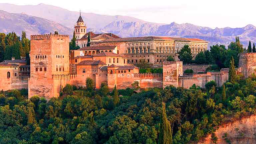
<path id="1" fill-rule="evenodd" d="M 79 17 L 79 12 L 69 11 L 60 7 L 39 5 L 0 4 L 0 31 L 18 32 L 25 30 L 30 34 L 45 34 L 59 31 L 72 36 L 73 27 Z M 121 37 L 137 36 L 170 36 L 200 38 L 213 44 L 226 46 L 240 37 L 247 47 L 248 41 L 256 41 L 256 27 L 247 25 L 242 28 L 215 28 L 196 26 L 189 23 L 170 24 L 152 23 L 129 16 L 109 16 L 94 13 L 81 13 L 87 25 L 87 31 L 96 33 L 114 33 Z"/>

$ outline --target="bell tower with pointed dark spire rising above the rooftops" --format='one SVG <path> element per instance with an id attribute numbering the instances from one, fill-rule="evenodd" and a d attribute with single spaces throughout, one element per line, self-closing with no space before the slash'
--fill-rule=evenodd
<path id="1" fill-rule="evenodd" d="M 79 16 L 74 28 L 75 28 L 74 30 L 75 30 L 75 36 L 76 36 L 77 40 L 81 39 L 86 34 L 87 27 L 84 24 L 84 21 L 81 17 L 81 11 L 80 11 L 80 16 Z"/>

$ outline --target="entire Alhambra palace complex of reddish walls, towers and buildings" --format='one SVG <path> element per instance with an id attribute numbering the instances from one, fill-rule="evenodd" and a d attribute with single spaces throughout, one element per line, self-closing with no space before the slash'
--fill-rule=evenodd
<path id="1" fill-rule="evenodd" d="M 25 60 L 6 60 L 0 63 L 0 90 L 28 89 L 29 98 L 39 95 L 47 99 L 58 97 L 66 84 L 85 86 L 86 78 L 93 79 L 95 88 L 107 83 L 110 89 L 131 87 L 135 81 L 141 88 L 167 85 L 189 88 L 196 84 L 202 88 L 214 80 L 221 86 L 228 80 L 229 69 L 206 74 L 183 76 L 185 69 L 205 71 L 208 65 L 182 65 L 177 52 L 189 45 L 193 57 L 207 49 L 207 42 L 191 38 L 131 37 L 121 38 L 112 33 L 86 32 L 80 15 L 75 29 L 78 50 L 69 52 L 68 35 L 31 35 L 30 66 Z M 86 47 L 88 35 L 90 46 Z M 176 61 L 168 62 L 173 56 Z M 163 74 L 140 74 L 134 66 L 140 60 L 163 67 Z M 256 68 L 256 53 L 241 53 L 237 73 L 250 76 Z"/>

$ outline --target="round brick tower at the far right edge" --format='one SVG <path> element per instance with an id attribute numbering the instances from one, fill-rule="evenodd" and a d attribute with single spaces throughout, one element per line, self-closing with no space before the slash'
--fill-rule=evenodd
<path id="1" fill-rule="evenodd" d="M 240 53 L 239 68 L 245 78 L 255 73 L 256 69 L 256 53 Z"/>

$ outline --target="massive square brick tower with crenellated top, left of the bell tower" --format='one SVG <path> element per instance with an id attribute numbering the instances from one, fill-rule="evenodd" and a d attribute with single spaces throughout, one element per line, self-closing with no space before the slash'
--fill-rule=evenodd
<path id="1" fill-rule="evenodd" d="M 53 75 L 69 73 L 68 35 L 31 35 L 28 97 L 57 97 Z"/>

